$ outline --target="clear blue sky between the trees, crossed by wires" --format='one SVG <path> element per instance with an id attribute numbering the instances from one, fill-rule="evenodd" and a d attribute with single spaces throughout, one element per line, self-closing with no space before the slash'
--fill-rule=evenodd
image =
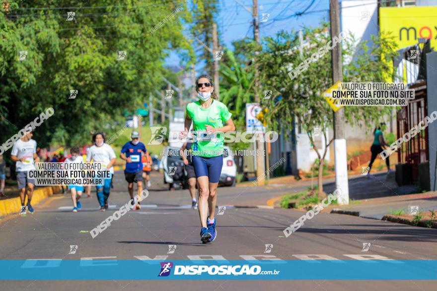
<path id="1" fill-rule="evenodd" d="M 252 7 L 252 0 L 237 1 L 249 9 Z M 232 41 L 253 37 L 252 15 L 237 1 L 217 0 L 220 10 L 219 41 L 229 48 Z M 306 8 L 301 16 L 295 16 L 295 13 L 303 12 Z M 262 13 L 270 13 L 267 22 L 260 22 L 260 37 L 275 35 L 282 29 L 291 31 L 303 26 L 315 26 L 323 17 L 329 19 L 328 9 L 329 0 L 258 0 L 260 20 Z M 166 63 L 180 64 L 180 61 L 175 53 L 171 53 Z"/>

